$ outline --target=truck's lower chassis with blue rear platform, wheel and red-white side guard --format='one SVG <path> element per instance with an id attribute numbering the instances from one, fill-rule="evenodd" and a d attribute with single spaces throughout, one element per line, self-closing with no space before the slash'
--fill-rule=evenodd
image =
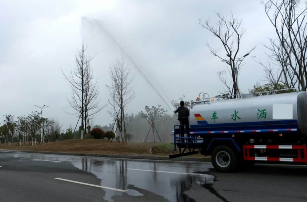
<path id="1" fill-rule="evenodd" d="M 180 125 L 173 131 L 174 150 L 169 158 L 201 153 L 211 155 L 211 162 L 219 172 L 233 172 L 239 166 L 254 163 L 307 163 L 306 138 L 297 128 L 264 130 L 193 131 L 180 136 Z M 299 141 L 297 141 L 299 140 Z"/>

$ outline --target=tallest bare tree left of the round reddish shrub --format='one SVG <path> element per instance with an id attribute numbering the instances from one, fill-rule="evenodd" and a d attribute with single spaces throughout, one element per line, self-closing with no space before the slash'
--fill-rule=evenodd
<path id="1" fill-rule="evenodd" d="M 89 132 L 89 119 L 103 109 L 103 107 L 99 106 L 98 85 L 97 81 L 94 81 L 91 70 L 91 60 L 93 58 L 87 56 L 86 47 L 82 43 L 81 50 L 77 51 L 75 55 L 76 68 L 71 69 L 69 75 L 66 75 L 62 70 L 72 89 L 72 96 L 67 98 L 67 101 L 75 111 L 67 113 L 78 115 L 81 118 L 81 139 L 84 137 L 84 130 Z"/>

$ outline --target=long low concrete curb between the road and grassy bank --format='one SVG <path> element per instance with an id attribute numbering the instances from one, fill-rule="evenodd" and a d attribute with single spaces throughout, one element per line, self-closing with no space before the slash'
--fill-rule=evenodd
<path id="1" fill-rule="evenodd" d="M 56 155 L 70 155 L 70 156 L 88 156 L 88 157 L 105 157 L 105 158 L 129 158 L 142 160 L 158 160 L 158 161 L 197 161 L 210 162 L 210 158 L 201 157 L 178 157 L 169 159 L 163 156 L 142 156 L 142 155 L 122 155 L 122 154 L 99 154 L 99 153 L 72 153 L 72 152 L 46 152 L 46 151 L 27 151 L 27 150 L 2 150 L 9 152 L 24 152 L 24 153 L 41 153 L 41 154 L 56 154 Z"/>

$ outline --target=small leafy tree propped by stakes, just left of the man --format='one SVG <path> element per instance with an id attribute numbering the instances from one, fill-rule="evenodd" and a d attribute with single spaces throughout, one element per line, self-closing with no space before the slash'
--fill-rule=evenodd
<path id="1" fill-rule="evenodd" d="M 167 110 L 165 110 L 164 108 L 161 107 L 161 105 L 158 105 L 158 107 L 154 107 L 152 106 L 151 108 L 148 106 L 145 106 L 145 111 L 146 113 L 142 113 L 142 117 L 145 118 L 145 120 L 148 122 L 148 124 L 150 125 L 149 131 L 147 133 L 145 142 L 147 140 L 147 137 L 150 133 L 150 129 L 152 129 L 153 132 L 153 143 L 155 143 L 155 135 L 154 135 L 154 131 L 156 131 L 159 140 L 162 142 L 159 133 L 156 129 L 156 126 L 165 122 L 166 121 L 166 116 L 165 113 L 167 112 Z"/>

